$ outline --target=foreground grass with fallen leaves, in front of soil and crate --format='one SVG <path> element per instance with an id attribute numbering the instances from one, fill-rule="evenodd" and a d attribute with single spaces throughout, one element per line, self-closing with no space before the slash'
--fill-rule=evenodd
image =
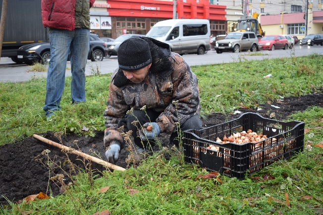
<path id="1" fill-rule="evenodd" d="M 309 125 L 311 130 L 305 139 L 312 142 L 323 139 L 318 128 L 323 126 L 322 117 L 323 110 L 316 107 L 292 115 L 293 120 Z M 0 209 L 0 214 L 91 215 L 104 210 L 113 215 L 322 214 L 322 154 L 320 147 L 313 146 L 288 161 L 276 162 L 239 181 L 220 175 L 197 178 L 210 172 L 196 166 L 178 165 L 176 156 L 166 161 L 157 153 L 137 169 L 104 172 L 104 177 L 93 183 L 87 173 L 80 173 L 73 177 L 74 185 L 64 194 L 12 205 L 12 210 Z M 105 191 L 100 191 L 102 188 Z"/>

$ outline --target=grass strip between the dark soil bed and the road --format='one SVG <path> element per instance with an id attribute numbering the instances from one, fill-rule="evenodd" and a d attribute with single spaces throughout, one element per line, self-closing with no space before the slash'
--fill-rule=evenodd
<path id="1" fill-rule="evenodd" d="M 323 57 L 313 54 L 192 67 L 199 79 L 201 115 L 233 112 L 239 106 L 258 108 L 279 96 L 308 94 L 323 85 L 322 64 Z M 268 74 L 272 77 L 264 79 Z M 43 111 L 46 79 L 0 83 L 0 145 L 47 130 L 94 135 L 96 129 L 104 129 L 109 82 L 110 75 L 87 77 L 86 103 L 71 105 L 70 78 L 67 78 L 62 110 L 52 122 L 46 121 Z M 83 126 L 89 130 L 82 131 Z"/>

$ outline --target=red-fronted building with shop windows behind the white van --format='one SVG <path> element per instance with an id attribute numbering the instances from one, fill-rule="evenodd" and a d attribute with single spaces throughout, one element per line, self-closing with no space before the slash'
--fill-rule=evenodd
<path id="1" fill-rule="evenodd" d="M 178 19 L 209 19 L 211 34 L 227 33 L 226 6 L 209 0 L 177 0 Z M 147 34 L 157 22 L 173 18 L 172 0 L 96 0 L 90 10 L 92 33 L 117 38 Z"/>

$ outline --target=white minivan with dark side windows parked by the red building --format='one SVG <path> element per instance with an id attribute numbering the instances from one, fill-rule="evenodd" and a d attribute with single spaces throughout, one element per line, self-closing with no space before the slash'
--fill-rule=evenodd
<path id="1" fill-rule="evenodd" d="M 169 44 L 178 54 L 204 54 L 211 49 L 207 19 L 168 19 L 156 23 L 146 37 Z"/>

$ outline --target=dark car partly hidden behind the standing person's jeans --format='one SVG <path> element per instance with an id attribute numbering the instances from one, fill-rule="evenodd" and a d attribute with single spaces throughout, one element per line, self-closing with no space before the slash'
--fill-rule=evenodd
<path id="1" fill-rule="evenodd" d="M 101 61 L 107 54 L 108 49 L 106 43 L 97 35 L 90 34 L 88 59 L 91 61 Z M 23 45 L 18 49 L 17 55 L 19 61 L 25 62 L 27 65 L 32 65 L 35 62 L 45 64 L 51 60 L 51 45 L 49 41 Z"/>

